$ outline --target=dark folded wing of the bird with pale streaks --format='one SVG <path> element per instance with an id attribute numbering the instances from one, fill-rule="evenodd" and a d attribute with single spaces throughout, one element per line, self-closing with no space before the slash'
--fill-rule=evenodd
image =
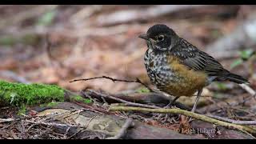
<path id="1" fill-rule="evenodd" d="M 202 70 L 206 74 L 218 76 L 222 72 L 223 66 L 213 57 L 205 52 L 198 50 L 195 46 L 181 39 L 178 46 L 172 50 L 174 56 L 181 59 L 182 63 L 189 66 L 193 70 Z"/>

